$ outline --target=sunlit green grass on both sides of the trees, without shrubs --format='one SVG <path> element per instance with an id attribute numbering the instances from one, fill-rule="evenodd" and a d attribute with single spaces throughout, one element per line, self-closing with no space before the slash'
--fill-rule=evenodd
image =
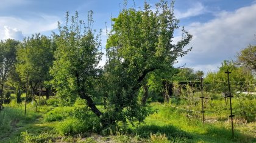
<path id="1" fill-rule="evenodd" d="M 122 133 L 115 131 L 115 136 L 109 136 L 110 139 L 108 140 L 114 142 L 256 141 L 254 132 L 256 127 L 255 122 L 241 124 L 240 118 L 235 118 L 235 138 L 232 138 L 231 125 L 228 117 L 230 112 L 224 108 L 226 107 L 225 102 L 215 100 L 212 102 L 212 107 L 210 106 L 211 102 L 208 102 L 208 104 L 207 111 L 221 111 L 205 113 L 205 124 L 203 124 L 201 113 L 173 108 L 173 106 L 177 106 L 179 108 L 199 110 L 199 107 L 193 108 L 190 106 L 188 108 L 184 102 L 182 104 L 177 104 L 174 101 L 171 101 L 169 104 L 153 102 L 149 104 L 149 107 L 155 113 L 149 115 L 143 124 L 129 125 L 127 129 L 130 131 L 124 131 Z M 11 104 L 5 105 L 4 110 L 0 113 L 0 142 L 96 141 L 93 138 L 83 140 L 83 138 L 79 137 L 80 133 L 86 132 L 89 128 L 89 126 L 88 128 L 82 127 L 79 123 L 80 121 L 74 118 L 75 108 L 83 107 L 85 107 L 84 102 L 77 101 L 73 107 L 41 105 L 36 112 L 35 107 L 29 103 L 27 104 L 27 115 L 25 116 L 24 103 L 16 104 L 15 102 L 11 102 Z M 97 107 L 104 111 L 103 105 L 97 105 Z M 50 118 L 50 116 L 53 118 L 60 116 L 62 119 L 48 121 L 47 118 Z M 77 124 L 73 124 L 74 122 L 77 122 Z M 68 127 L 73 127 L 73 132 L 69 130 L 72 134 L 65 134 L 65 132 L 68 132 L 66 131 Z"/>

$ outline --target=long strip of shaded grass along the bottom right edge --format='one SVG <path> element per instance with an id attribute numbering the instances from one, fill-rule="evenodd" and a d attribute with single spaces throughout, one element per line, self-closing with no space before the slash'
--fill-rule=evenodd
<path id="1" fill-rule="evenodd" d="M 244 135 L 235 130 L 235 136 L 232 138 L 231 129 L 205 125 L 202 130 L 205 133 L 188 133 L 172 125 L 141 125 L 134 132 L 142 138 L 150 138 L 151 133 L 163 135 L 165 133 L 169 141 L 173 142 L 256 142 L 256 138 Z"/>

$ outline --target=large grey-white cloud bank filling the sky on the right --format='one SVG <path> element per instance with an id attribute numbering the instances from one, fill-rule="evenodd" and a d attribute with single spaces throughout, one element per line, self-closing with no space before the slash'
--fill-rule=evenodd
<path id="1" fill-rule="evenodd" d="M 256 4 L 235 12 L 221 12 L 212 21 L 189 25 L 193 35 L 188 55 L 179 58 L 179 64 L 201 68 L 205 72 L 211 65 L 220 65 L 224 59 L 235 58 L 237 52 L 249 44 L 256 44 Z M 199 70 L 199 69 L 198 69 Z"/>

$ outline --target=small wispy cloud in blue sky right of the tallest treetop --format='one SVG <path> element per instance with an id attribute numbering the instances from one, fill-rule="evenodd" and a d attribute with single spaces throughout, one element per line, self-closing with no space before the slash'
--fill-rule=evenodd
<path id="1" fill-rule="evenodd" d="M 188 8 L 187 12 L 180 12 L 179 10 L 174 10 L 174 15 L 178 19 L 188 18 L 191 16 L 201 15 L 205 12 L 205 7 L 200 2 L 194 3 L 191 8 Z"/>

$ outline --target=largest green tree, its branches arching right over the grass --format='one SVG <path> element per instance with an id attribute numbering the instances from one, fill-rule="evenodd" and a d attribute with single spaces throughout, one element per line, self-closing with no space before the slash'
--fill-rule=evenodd
<path id="1" fill-rule="evenodd" d="M 172 68 L 185 50 L 192 36 L 182 28 L 183 37 L 172 44 L 179 21 L 167 1 L 156 4 L 156 12 L 149 4 L 144 10 L 124 9 L 114 22 L 107 40 L 108 107 L 110 116 L 122 121 L 143 121 L 146 113 L 138 105 L 138 90 L 153 72 Z"/>

